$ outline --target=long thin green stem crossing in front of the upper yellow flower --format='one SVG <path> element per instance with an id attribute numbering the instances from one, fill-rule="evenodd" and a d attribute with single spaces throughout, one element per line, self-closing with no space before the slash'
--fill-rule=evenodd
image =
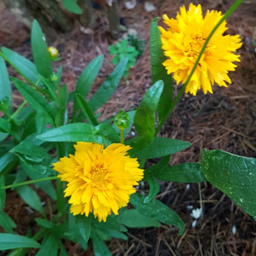
<path id="1" fill-rule="evenodd" d="M 187 78 L 185 84 L 183 84 L 183 86 L 181 87 L 181 89 L 180 89 L 178 95 L 176 96 L 175 100 L 172 102 L 172 104 L 171 104 L 169 110 L 166 112 L 166 115 L 163 117 L 163 119 L 161 120 L 160 124 L 158 125 L 158 127 L 157 127 L 157 129 L 156 129 L 155 135 L 157 135 L 157 133 L 161 130 L 161 128 L 162 128 L 163 124 L 165 123 L 165 121 L 167 120 L 168 116 L 171 114 L 171 112 L 172 112 L 173 109 L 175 108 L 177 102 L 180 100 L 180 98 L 181 98 L 181 96 L 182 96 L 182 94 L 183 94 L 183 92 L 184 92 L 184 90 L 185 90 L 187 84 L 189 83 L 189 81 L 190 81 L 192 75 L 194 74 L 194 72 L 195 72 L 195 70 L 196 70 L 196 67 L 197 67 L 197 65 L 198 65 L 198 63 L 199 63 L 199 61 L 200 61 L 200 58 L 202 57 L 203 52 L 204 52 L 204 50 L 205 50 L 207 44 L 209 43 L 209 41 L 210 41 L 212 35 L 213 35 L 214 32 L 218 29 L 218 27 L 224 22 L 224 20 L 227 19 L 227 18 L 230 16 L 230 14 L 231 14 L 234 10 L 236 10 L 236 9 L 238 8 L 238 6 L 239 6 L 242 2 L 243 2 L 243 0 L 237 0 L 237 1 L 227 10 L 227 12 L 225 13 L 225 15 L 221 18 L 221 20 L 219 20 L 219 22 L 217 23 L 217 25 L 213 28 L 213 30 L 211 31 L 211 33 L 208 35 L 208 38 L 207 38 L 207 39 L 205 40 L 205 42 L 204 42 L 204 45 L 203 45 L 203 47 L 202 47 L 202 49 L 201 49 L 201 52 L 199 53 L 199 56 L 198 56 L 198 58 L 197 58 L 197 60 L 196 60 L 196 63 L 195 63 L 195 65 L 194 65 L 193 69 L 191 70 L 191 72 L 190 72 L 190 74 L 189 74 L 189 76 L 188 76 L 188 78 Z"/>

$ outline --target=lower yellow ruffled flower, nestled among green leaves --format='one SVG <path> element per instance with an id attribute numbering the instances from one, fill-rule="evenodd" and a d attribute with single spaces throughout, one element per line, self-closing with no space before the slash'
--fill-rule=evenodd
<path id="1" fill-rule="evenodd" d="M 105 222 L 106 217 L 118 214 L 118 209 L 129 202 L 136 191 L 134 185 L 143 178 L 137 158 L 127 156 L 130 146 L 114 143 L 103 149 L 103 145 L 77 142 L 75 155 L 60 158 L 54 163 L 58 177 L 67 181 L 65 197 L 69 197 L 70 211 L 89 215 Z"/>

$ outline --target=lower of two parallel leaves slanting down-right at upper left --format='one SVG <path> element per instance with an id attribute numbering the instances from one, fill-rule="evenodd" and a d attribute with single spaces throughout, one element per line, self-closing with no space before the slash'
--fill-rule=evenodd
<path id="1" fill-rule="evenodd" d="M 26 83 L 18 80 L 14 77 L 11 78 L 15 87 L 19 90 L 22 96 L 28 101 L 28 103 L 39 113 L 43 114 L 49 122 L 54 125 L 55 110 L 49 104 L 49 102 L 39 94 L 35 89 L 31 88 Z"/>

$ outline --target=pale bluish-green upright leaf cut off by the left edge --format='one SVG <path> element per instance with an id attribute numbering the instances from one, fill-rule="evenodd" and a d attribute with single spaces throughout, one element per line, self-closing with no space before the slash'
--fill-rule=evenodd
<path id="1" fill-rule="evenodd" d="M 0 101 L 8 97 L 8 110 L 12 112 L 12 87 L 4 59 L 0 55 Z"/>

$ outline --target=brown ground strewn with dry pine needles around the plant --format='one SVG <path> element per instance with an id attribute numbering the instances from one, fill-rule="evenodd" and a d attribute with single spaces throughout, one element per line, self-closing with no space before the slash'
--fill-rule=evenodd
<path id="1" fill-rule="evenodd" d="M 120 4 L 121 15 L 125 25 L 134 28 L 142 39 L 147 40 L 144 55 L 138 60 L 135 68 L 129 72 L 128 82 L 122 80 L 118 89 L 108 103 L 100 110 L 101 118 L 113 117 L 120 108 L 130 110 L 137 106 L 145 90 L 151 85 L 149 28 L 151 20 L 156 16 L 167 13 L 174 17 L 179 6 L 189 1 L 161 0 L 152 1 L 157 10 L 146 12 L 143 1 L 137 1 L 133 10 L 127 10 Z M 201 3 L 203 9 L 226 11 L 233 1 L 195 1 Z M 63 60 L 63 83 L 73 90 L 79 74 L 87 63 L 99 54 L 104 54 L 104 62 L 89 97 L 96 91 L 113 69 L 108 45 L 112 44 L 107 32 L 107 19 L 103 11 L 96 11 L 97 27 L 93 33 L 84 34 L 80 26 L 72 33 L 59 35 L 52 42 Z M 5 18 L 4 18 L 5 17 Z M 11 18 L 10 18 L 11 17 Z M 11 20 L 11 23 L 7 22 Z M 227 20 L 228 33 L 239 33 L 243 46 L 239 50 L 241 63 L 235 72 L 230 74 L 232 84 L 228 88 L 213 88 L 213 95 L 198 93 L 196 97 L 184 95 L 174 112 L 169 117 L 160 135 L 189 141 L 192 146 L 172 157 L 172 163 L 185 161 L 200 161 L 200 154 L 205 147 L 208 150 L 220 148 L 230 153 L 256 157 L 256 55 L 252 44 L 252 34 L 256 26 L 256 2 L 245 0 Z M 159 20 L 159 24 L 161 19 Z M 11 32 L 10 32 L 11 31 Z M 22 32 L 21 32 L 22 31 Z M 17 32 L 17 33 L 16 33 Z M 20 35 L 18 35 L 18 33 Z M 25 36 L 26 35 L 26 36 Z M 28 34 L 15 21 L 7 10 L 0 9 L 0 45 L 5 45 L 26 57 L 31 58 L 30 43 L 24 42 Z M 16 73 L 10 69 L 10 75 Z M 175 93 L 179 87 L 175 87 Z M 14 91 L 15 106 L 22 98 Z M 72 106 L 70 106 L 72 108 Z M 142 187 L 140 188 L 142 189 Z M 145 184 L 143 191 L 147 193 Z M 161 182 L 157 198 L 176 211 L 186 224 L 185 233 L 178 235 L 177 228 L 162 225 L 158 229 L 129 229 L 129 241 L 112 239 L 108 246 L 113 255 L 129 256 L 254 256 L 256 255 L 256 223 L 252 217 L 245 214 L 221 191 L 207 182 L 201 184 L 203 199 L 203 217 L 196 227 L 191 228 L 193 219 L 190 217 L 188 205 L 199 207 L 198 185 Z M 42 197 L 45 198 L 41 192 Z M 46 198 L 45 198 L 46 199 Z M 25 234 L 28 226 L 36 229 L 33 214 L 29 216 L 26 205 L 15 192 L 7 195 L 6 212 L 17 223 L 19 234 Z M 237 232 L 232 234 L 232 227 Z M 78 245 L 65 243 L 68 255 L 93 255 L 89 243 L 87 252 L 79 250 Z M 29 255 L 34 255 L 31 251 Z"/>

